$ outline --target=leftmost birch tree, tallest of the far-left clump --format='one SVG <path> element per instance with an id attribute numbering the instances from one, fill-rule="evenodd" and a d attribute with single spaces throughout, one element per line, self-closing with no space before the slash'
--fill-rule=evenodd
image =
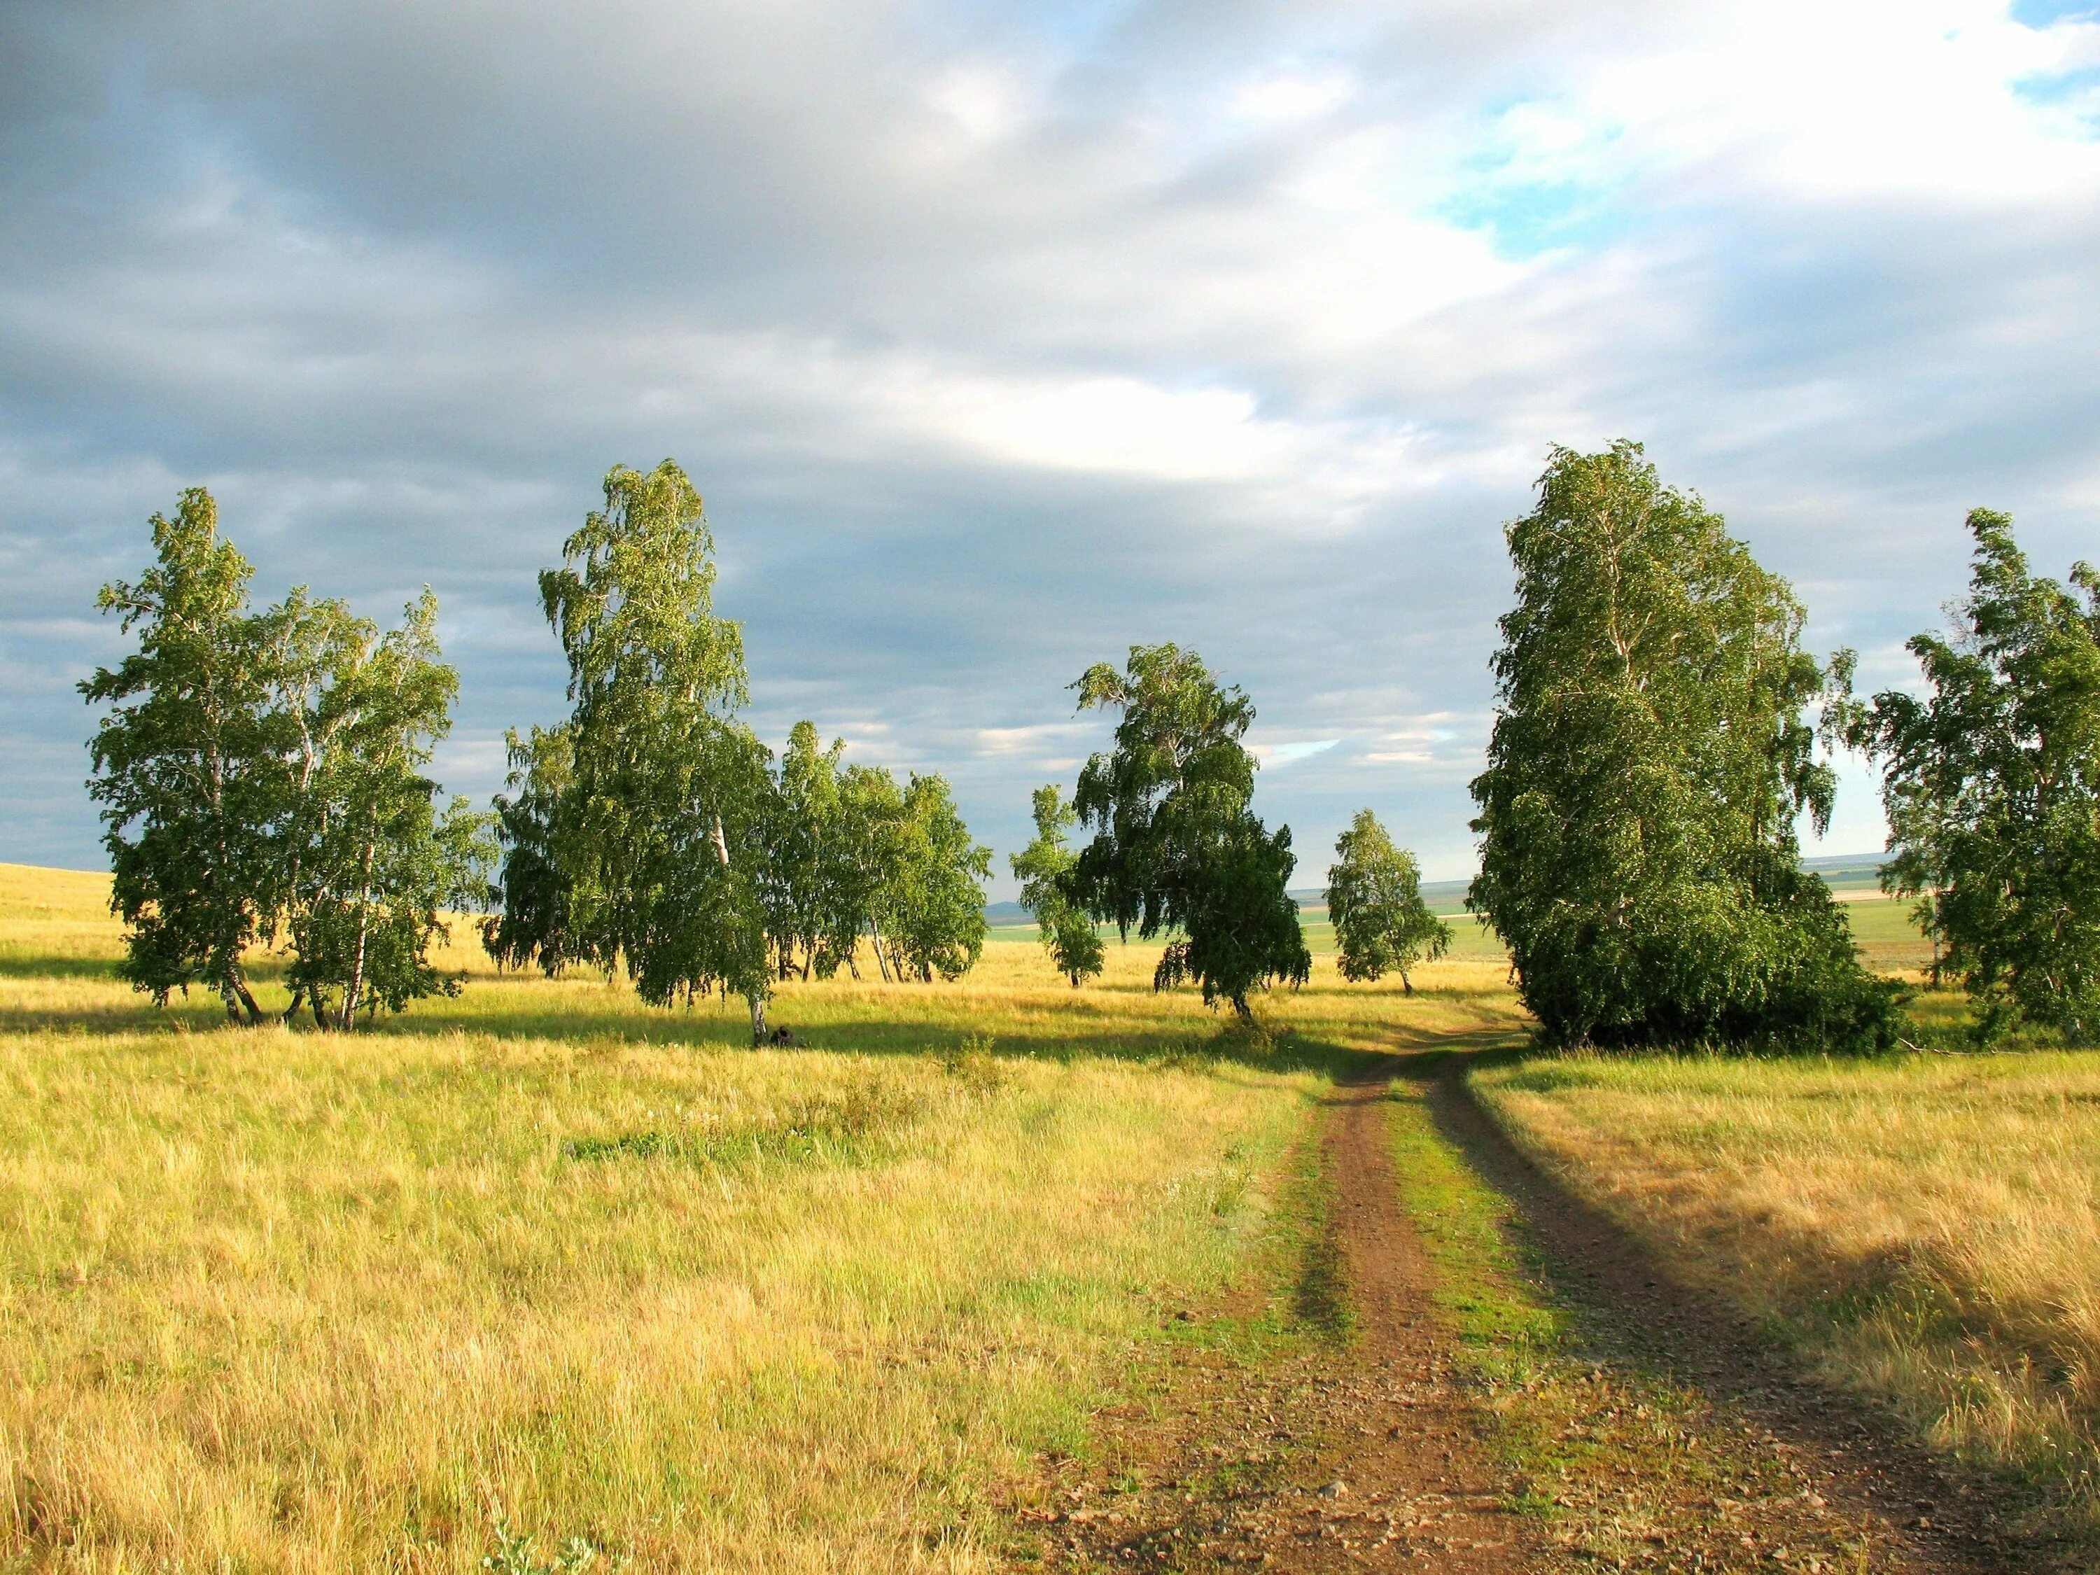
<path id="1" fill-rule="evenodd" d="M 189 487 L 174 519 L 153 514 L 151 527 L 155 565 L 94 603 L 122 615 L 139 649 L 80 685 L 88 704 L 111 706 L 88 746 L 88 794 L 126 926 L 120 972 L 160 1006 L 204 985 L 227 1016 L 256 1023 L 242 958 L 275 911 L 286 790 L 269 638 L 248 613 L 254 569 L 218 538 L 212 494 Z"/>

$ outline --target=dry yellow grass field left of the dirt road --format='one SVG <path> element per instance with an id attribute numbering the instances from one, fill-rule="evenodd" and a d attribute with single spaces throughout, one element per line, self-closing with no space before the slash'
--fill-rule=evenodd
<path id="1" fill-rule="evenodd" d="M 477 972 L 357 1037 L 153 1012 L 105 884 L 0 867 L 0 1558 L 974 1571 L 1161 1308 L 1245 1273 L 1321 1058 L 1493 1033 L 1499 968 L 1331 974 L 1285 1054 L 1113 949 L 739 1006 Z M 267 960 L 260 964 L 267 976 Z M 281 991 L 277 995 L 281 1000 Z M 995 1035 L 998 1054 L 970 1048 Z"/>

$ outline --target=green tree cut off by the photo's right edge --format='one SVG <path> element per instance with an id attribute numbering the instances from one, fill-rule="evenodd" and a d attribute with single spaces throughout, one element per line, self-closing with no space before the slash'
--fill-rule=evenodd
<path id="1" fill-rule="evenodd" d="M 2100 1029 L 2100 573 L 2066 590 L 2037 578 L 2008 514 L 1968 517 L 1970 594 L 1953 638 L 1909 643 L 1928 695 L 1846 699 L 1831 733 L 1884 762 L 1890 853 L 1882 884 L 1917 897 L 1942 966 L 1984 1008 L 1976 1037 L 2012 1021 Z M 2083 592 L 2083 594 L 2075 594 Z"/>

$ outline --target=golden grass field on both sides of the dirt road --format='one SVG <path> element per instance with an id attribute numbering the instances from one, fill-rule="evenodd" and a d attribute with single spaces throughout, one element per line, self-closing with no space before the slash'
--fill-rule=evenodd
<path id="1" fill-rule="evenodd" d="M 1004 1485 L 1302 1228 L 1279 1199 L 1329 1075 L 1522 1029 L 1464 922 L 1413 1000 L 1344 985 L 1327 939 L 1266 1040 L 1151 993 L 1149 947 L 1073 991 L 1029 932 L 951 987 L 785 985 L 794 1050 L 743 1048 L 741 1004 L 464 945 L 458 1000 L 248 1031 L 116 981 L 103 892 L 0 865 L 8 1567 L 472 1571 L 500 1525 L 651 1569 L 998 1567 Z M 1928 960 L 1900 905 L 1848 911 L 1877 966 Z M 1917 1033 L 1957 1016 L 1926 998 Z M 1476 1082 L 1842 1382 L 2090 1493 L 2100 1058 Z"/>

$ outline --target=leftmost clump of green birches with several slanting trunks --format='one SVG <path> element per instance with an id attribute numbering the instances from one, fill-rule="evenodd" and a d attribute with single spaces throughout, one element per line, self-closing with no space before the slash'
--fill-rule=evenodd
<path id="1" fill-rule="evenodd" d="M 262 1012 L 242 953 L 290 941 L 292 1016 L 351 1029 L 380 1006 L 456 993 L 428 962 L 441 911 L 481 905 L 487 817 L 433 811 L 424 773 L 452 724 L 458 676 L 439 659 L 437 601 L 378 630 L 304 588 L 248 611 L 248 561 L 216 536 L 210 494 L 153 517 L 158 565 L 99 605 L 139 651 L 82 693 L 116 701 L 94 779 L 126 976 L 166 1004 L 204 983 L 246 1021 Z"/>

